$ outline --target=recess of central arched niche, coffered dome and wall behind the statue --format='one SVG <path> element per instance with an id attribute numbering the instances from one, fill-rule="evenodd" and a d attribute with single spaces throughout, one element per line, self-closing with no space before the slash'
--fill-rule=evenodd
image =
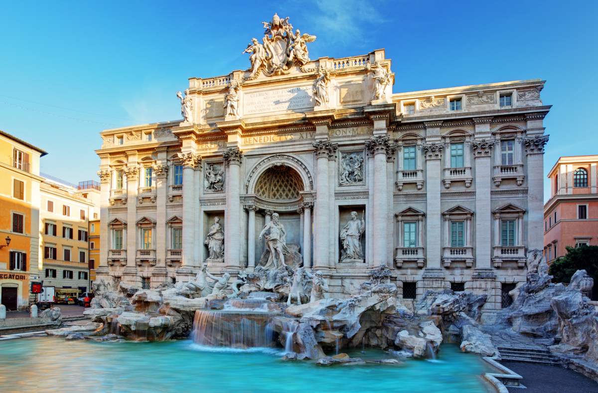
<path id="1" fill-rule="evenodd" d="M 296 245 L 303 251 L 303 236 L 301 236 L 301 220 L 297 208 L 289 209 L 289 205 L 297 206 L 301 200 L 301 191 L 305 187 L 301 175 L 290 166 L 285 164 L 274 164 L 260 174 L 255 182 L 254 193 L 257 197 L 256 205 L 260 206 L 260 199 L 264 202 L 270 201 L 269 205 L 280 203 L 281 209 L 274 208 L 273 211 L 279 214 L 279 221 L 285 227 L 286 244 Z M 284 206 L 284 208 L 283 208 Z M 269 208 L 270 209 L 270 208 Z M 255 254 L 260 261 L 265 249 L 264 240 L 258 240 L 257 236 L 266 223 L 264 211 L 260 211 L 255 217 Z"/>

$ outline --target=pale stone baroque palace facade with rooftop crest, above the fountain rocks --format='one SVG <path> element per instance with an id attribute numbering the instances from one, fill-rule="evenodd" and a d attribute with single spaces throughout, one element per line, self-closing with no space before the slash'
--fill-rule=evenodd
<path id="1" fill-rule="evenodd" d="M 384 50 L 310 60 L 314 39 L 275 15 L 247 71 L 190 78 L 182 121 L 101 133 L 98 278 L 234 276 L 282 249 L 330 296 L 385 264 L 405 303 L 501 309 L 543 245 L 544 81 L 393 94 Z"/>

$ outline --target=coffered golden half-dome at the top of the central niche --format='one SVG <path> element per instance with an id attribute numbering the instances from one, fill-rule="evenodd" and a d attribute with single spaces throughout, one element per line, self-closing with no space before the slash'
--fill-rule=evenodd
<path id="1" fill-rule="evenodd" d="M 264 170 L 255 184 L 255 194 L 270 200 L 292 202 L 300 199 L 303 190 L 299 173 L 286 165 L 274 165 Z"/>

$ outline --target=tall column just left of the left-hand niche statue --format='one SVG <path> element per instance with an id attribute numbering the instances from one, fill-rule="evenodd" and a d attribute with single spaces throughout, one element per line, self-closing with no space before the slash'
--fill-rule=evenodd
<path id="1" fill-rule="evenodd" d="M 202 157 L 195 153 L 179 153 L 183 163 L 183 250 L 181 267 L 199 266 L 194 258 L 195 242 L 195 187 L 194 173 L 202 162 Z"/>

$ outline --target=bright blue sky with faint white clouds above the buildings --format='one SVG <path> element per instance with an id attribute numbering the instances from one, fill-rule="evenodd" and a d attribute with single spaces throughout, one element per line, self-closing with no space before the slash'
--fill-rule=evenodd
<path id="1" fill-rule="evenodd" d="M 187 78 L 248 68 L 241 51 L 275 11 L 318 36 L 313 59 L 386 48 L 394 92 L 542 78 L 545 172 L 598 153 L 598 2 L 168 3 L 0 2 L 0 129 L 50 153 L 42 172 L 95 179 L 101 130 L 180 118 Z"/>

